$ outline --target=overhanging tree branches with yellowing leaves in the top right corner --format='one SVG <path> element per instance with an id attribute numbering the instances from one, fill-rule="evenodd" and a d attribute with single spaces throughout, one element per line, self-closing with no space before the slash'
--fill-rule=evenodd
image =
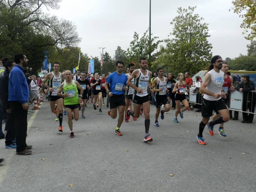
<path id="1" fill-rule="evenodd" d="M 233 12 L 244 19 L 240 25 L 245 31 L 243 34 L 247 35 L 244 38 L 252 40 L 256 37 L 256 2 L 253 0 L 235 0 L 232 1 L 232 4 L 234 5 L 232 8 Z M 250 30 L 250 32 L 248 30 Z"/>

